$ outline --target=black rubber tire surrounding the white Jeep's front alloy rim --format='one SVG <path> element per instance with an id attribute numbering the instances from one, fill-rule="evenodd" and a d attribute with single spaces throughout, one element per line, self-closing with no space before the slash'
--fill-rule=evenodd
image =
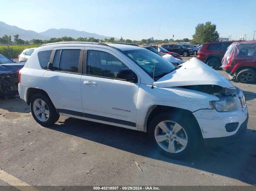
<path id="1" fill-rule="evenodd" d="M 155 129 L 158 127 L 158 124 L 163 121 L 173 121 L 175 123 L 178 123 L 180 126 L 182 126 L 188 138 L 187 145 L 184 150 L 178 153 L 171 153 L 171 152 L 165 151 L 163 148 L 161 148 L 158 145 L 155 139 Z M 173 159 L 184 159 L 188 157 L 195 150 L 195 148 L 199 143 L 199 135 L 197 131 L 195 131 L 192 123 L 189 123 L 187 120 L 181 119 L 181 117 L 177 114 L 166 112 L 166 111 L 159 113 L 152 119 L 148 127 L 148 136 L 151 143 L 153 144 L 153 146 L 158 152 Z"/>

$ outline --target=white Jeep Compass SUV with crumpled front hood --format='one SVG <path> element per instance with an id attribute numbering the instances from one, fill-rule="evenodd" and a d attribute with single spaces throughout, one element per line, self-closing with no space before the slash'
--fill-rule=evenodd
<path id="1" fill-rule="evenodd" d="M 138 46 L 44 44 L 19 72 L 18 86 L 42 126 L 65 115 L 148 132 L 171 158 L 201 140 L 235 142 L 247 129 L 243 91 L 230 81 L 196 58 L 178 67 Z"/>

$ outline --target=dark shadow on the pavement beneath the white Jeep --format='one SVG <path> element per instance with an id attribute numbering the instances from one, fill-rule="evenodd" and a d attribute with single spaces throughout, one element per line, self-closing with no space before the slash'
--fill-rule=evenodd
<path id="1" fill-rule="evenodd" d="M 62 123 L 62 122 L 61 122 Z M 199 146 L 183 160 L 167 158 L 152 148 L 147 133 L 100 123 L 68 118 L 61 125 L 47 127 L 144 157 L 219 174 L 256 185 L 256 131 L 248 129 L 240 142 L 219 147 Z M 101 132 L 101 133 L 98 133 Z M 208 173 L 207 173 L 208 172 Z"/>

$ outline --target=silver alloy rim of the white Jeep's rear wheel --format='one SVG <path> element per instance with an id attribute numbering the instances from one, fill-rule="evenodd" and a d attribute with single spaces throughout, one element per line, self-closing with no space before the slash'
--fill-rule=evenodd
<path id="1" fill-rule="evenodd" d="M 46 122 L 49 119 L 49 108 L 44 100 L 36 99 L 33 103 L 33 111 L 38 120 Z"/>

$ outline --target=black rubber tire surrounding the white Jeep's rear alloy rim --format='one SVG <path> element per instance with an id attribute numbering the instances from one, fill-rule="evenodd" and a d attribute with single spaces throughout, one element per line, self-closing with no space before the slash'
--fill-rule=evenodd
<path id="1" fill-rule="evenodd" d="M 47 117 L 45 118 L 46 121 L 42 121 L 40 120 L 40 115 L 41 115 L 41 119 L 42 119 L 42 114 L 39 114 L 36 116 L 35 111 L 34 111 L 34 102 L 37 100 L 42 100 L 45 102 L 45 108 L 46 110 L 48 110 L 49 115 L 47 115 Z M 42 105 L 42 102 L 41 102 Z M 30 102 L 30 110 L 32 113 L 33 118 L 35 119 L 35 121 L 37 123 L 39 123 L 41 126 L 52 126 L 54 123 L 56 123 L 60 117 L 60 115 L 57 113 L 54 105 L 52 104 L 52 101 L 49 100 L 48 97 L 46 97 L 45 95 L 42 94 L 35 94 L 32 98 L 31 98 L 31 102 Z M 40 108 L 38 107 L 38 110 L 40 110 Z M 39 119 L 38 119 L 39 118 Z"/>

